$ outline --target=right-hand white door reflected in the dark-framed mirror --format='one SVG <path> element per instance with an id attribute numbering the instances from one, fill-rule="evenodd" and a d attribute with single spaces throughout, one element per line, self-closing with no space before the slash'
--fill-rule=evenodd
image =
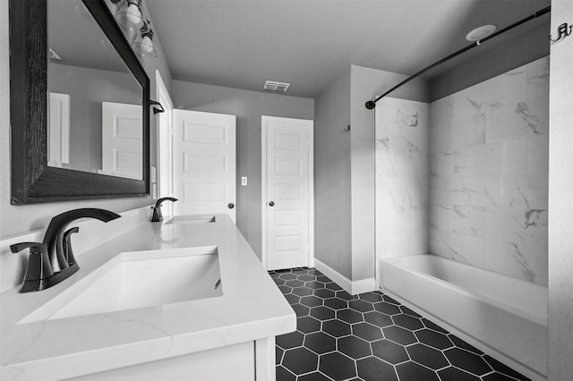
<path id="1" fill-rule="evenodd" d="M 101 103 L 101 169 L 106 174 L 143 178 L 143 111 L 140 105 Z"/>

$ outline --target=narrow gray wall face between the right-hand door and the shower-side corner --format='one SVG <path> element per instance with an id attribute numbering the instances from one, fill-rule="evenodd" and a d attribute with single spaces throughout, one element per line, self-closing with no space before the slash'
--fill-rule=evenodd
<path id="1" fill-rule="evenodd" d="M 314 104 L 314 256 L 352 278 L 350 72 Z"/>

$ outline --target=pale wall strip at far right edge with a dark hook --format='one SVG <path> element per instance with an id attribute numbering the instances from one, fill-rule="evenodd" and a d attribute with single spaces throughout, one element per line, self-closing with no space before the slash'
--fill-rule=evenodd
<path id="1" fill-rule="evenodd" d="M 552 33 L 573 21 L 573 2 L 552 1 Z M 549 373 L 573 375 L 573 36 L 551 47 L 549 94 Z"/>

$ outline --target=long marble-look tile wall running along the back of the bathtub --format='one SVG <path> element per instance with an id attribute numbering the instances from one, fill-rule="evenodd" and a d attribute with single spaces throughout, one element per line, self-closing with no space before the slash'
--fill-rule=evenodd
<path id="1" fill-rule="evenodd" d="M 548 113 L 549 57 L 432 102 L 431 253 L 547 284 Z"/>

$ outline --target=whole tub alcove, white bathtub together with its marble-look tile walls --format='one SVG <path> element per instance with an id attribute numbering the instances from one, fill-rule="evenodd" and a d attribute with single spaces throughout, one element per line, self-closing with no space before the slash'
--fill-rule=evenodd
<path id="1" fill-rule="evenodd" d="M 380 287 L 533 379 L 547 375 L 548 94 L 545 57 L 376 107 Z"/>

